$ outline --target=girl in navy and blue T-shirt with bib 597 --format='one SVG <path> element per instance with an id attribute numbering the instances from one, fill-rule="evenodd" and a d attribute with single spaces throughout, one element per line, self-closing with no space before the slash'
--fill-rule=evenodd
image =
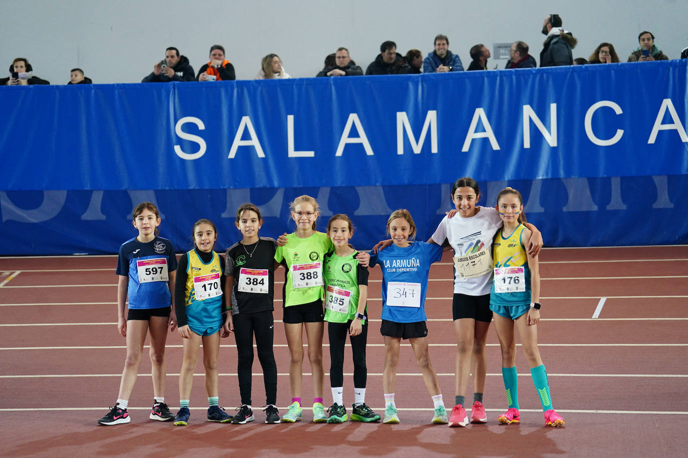
<path id="1" fill-rule="evenodd" d="M 120 247 L 117 260 L 117 330 L 127 339 L 127 358 L 120 380 L 115 407 L 111 407 L 98 424 L 129 423 L 127 407 L 136 382 L 138 365 L 146 334 L 151 335 L 151 375 L 153 378 L 153 409 L 151 420 L 172 420 L 174 415 L 164 402 L 165 341 L 167 330 L 173 331 L 171 317 L 174 310 L 171 290 L 175 282 L 177 258 L 172 242 L 158 237 L 160 214 L 150 202 L 133 209 L 133 227 L 138 236 Z M 125 319 L 125 302 L 129 298 L 129 312 Z"/>

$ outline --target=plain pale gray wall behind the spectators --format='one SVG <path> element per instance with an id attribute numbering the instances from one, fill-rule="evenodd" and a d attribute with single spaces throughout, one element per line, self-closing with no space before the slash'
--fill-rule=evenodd
<path id="1" fill-rule="evenodd" d="M 140 82 L 168 46 L 178 47 L 197 71 L 215 43 L 224 45 L 239 79 L 252 79 L 271 52 L 292 78 L 314 76 L 339 46 L 365 70 L 383 41 L 396 41 L 402 54 L 418 48 L 425 55 L 438 33 L 449 36 L 449 49 L 464 67 L 476 43 L 492 49 L 523 40 L 537 59 L 544 39 L 539 30 L 552 12 L 579 40 L 574 57 L 587 58 L 609 41 L 625 61 L 641 30 L 652 31 L 669 58 L 688 45 L 687 0 L 3 0 L 0 11 L 0 66 L 26 57 L 36 76 L 53 84 L 67 83 L 73 67 L 98 83 Z M 505 62 L 491 59 L 488 66 L 504 68 Z"/>

